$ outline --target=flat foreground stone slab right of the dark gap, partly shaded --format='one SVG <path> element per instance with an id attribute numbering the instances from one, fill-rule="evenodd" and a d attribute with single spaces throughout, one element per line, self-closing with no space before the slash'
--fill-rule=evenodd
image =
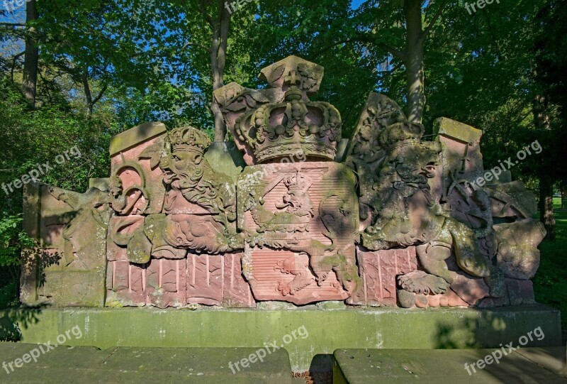
<path id="1" fill-rule="evenodd" d="M 515 345 L 515 344 L 514 344 Z M 563 355 L 551 358 L 558 349 L 519 349 L 503 356 L 499 363 L 475 370 L 473 363 L 492 356 L 495 349 L 476 350 L 384 350 L 339 349 L 333 354 L 333 383 L 567 383 L 567 378 L 538 365 L 526 355 L 547 354 L 554 366 L 565 366 Z M 489 359 L 490 361 L 490 359 Z M 467 364 L 470 373 L 466 370 Z"/>

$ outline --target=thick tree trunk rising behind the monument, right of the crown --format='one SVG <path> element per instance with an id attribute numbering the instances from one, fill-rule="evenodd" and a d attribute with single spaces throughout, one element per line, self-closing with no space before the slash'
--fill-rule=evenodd
<path id="1" fill-rule="evenodd" d="M 406 23 L 405 75 L 408 81 L 408 120 L 421 123 L 425 107 L 425 69 L 421 0 L 405 0 Z"/>

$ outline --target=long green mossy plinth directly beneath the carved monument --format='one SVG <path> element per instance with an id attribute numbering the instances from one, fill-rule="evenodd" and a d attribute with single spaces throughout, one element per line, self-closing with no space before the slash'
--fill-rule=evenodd
<path id="1" fill-rule="evenodd" d="M 16 328 L 13 324 L 17 324 Z M 314 357 L 336 349 L 498 348 L 541 327 L 526 346 L 561 346 L 556 309 L 523 305 L 496 309 L 151 309 L 67 308 L 0 311 L 0 337 L 18 332 L 26 343 L 55 343 L 78 327 L 72 346 L 250 347 L 275 343 L 291 369 L 313 369 Z M 295 336 L 294 336 L 295 332 Z M 79 331 L 77 331 L 79 334 Z"/>

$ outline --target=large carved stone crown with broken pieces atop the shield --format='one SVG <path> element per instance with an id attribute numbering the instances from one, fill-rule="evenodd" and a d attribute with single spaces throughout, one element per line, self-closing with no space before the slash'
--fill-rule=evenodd
<path id="1" fill-rule="evenodd" d="M 215 93 L 223 114 L 235 119 L 228 128 L 239 147 L 245 150 L 248 165 L 298 154 L 304 158 L 335 160 L 337 143 L 341 140 L 339 111 L 329 103 L 308 99 L 309 94 L 318 91 L 322 75 L 323 68 L 319 65 L 289 56 L 264 68 L 260 75 L 272 89 L 280 90 L 276 93 L 284 92 L 283 101 L 262 98 L 262 94 L 252 97 L 254 94 L 250 92 L 247 106 L 232 107 L 234 98 L 228 92 L 246 93 L 242 87 L 229 84 Z M 231 113 L 235 109 L 239 110 L 237 116 Z"/>

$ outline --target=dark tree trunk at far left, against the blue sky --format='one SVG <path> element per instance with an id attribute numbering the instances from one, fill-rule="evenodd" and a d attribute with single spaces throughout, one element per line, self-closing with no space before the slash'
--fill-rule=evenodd
<path id="1" fill-rule="evenodd" d="M 38 11 L 35 9 L 35 0 L 26 3 L 26 24 L 38 19 Z M 26 56 L 23 62 L 23 87 L 22 93 L 35 108 L 35 95 L 38 87 L 38 60 L 39 48 L 35 42 L 37 31 L 35 27 L 28 28 L 26 33 Z"/>

